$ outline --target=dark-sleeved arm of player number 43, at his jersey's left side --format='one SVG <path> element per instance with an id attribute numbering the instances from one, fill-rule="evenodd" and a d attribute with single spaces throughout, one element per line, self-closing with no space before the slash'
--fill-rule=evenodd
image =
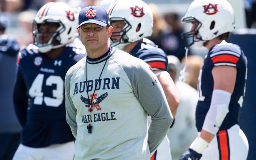
<path id="1" fill-rule="evenodd" d="M 14 84 L 13 101 L 16 116 L 21 126 L 24 126 L 27 121 L 28 96 L 26 94 L 27 87 L 20 70 L 17 72 L 16 81 Z"/>

